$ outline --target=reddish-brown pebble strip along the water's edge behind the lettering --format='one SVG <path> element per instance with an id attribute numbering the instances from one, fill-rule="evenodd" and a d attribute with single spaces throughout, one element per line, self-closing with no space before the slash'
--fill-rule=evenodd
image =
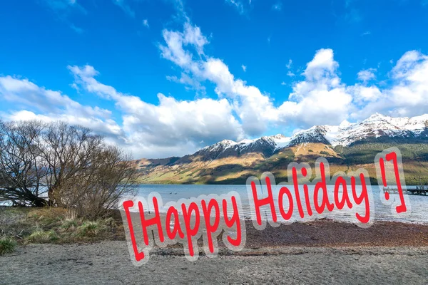
<path id="1" fill-rule="evenodd" d="M 153 214 L 146 215 L 146 219 L 151 217 L 154 217 Z M 133 223 L 138 224 L 139 218 L 136 212 L 131 213 Z M 161 220 L 163 219 L 161 218 Z M 428 224 L 376 221 L 370 227 L 359 227 L 350 222 L 323 218 L 280 224 L 278 227 L 272 227 L 267 223 L 265 229 L 258 230 L 251 219 L 240 220 L 240 222 L 245 222 L 245 249 L 262 247 L 428 247 Z M 243 227 L 242 224 L 241 227 Z M 202 230 L 203 228 L 199 229 L 199 231 Z M 134 231 L 136 231 L 136 227 L 134 227 Z M 141 229 L 138 229 L 136 234 L 139 232 Z M 223 233 L 217 236 L 219 249 L 225 248 L 222 239 Z M 139 240 L 138 235 L 136 238 Z M 186 241 L 187 239 L 177 240 L 178 243 L 168 245 L 167 248 L 180 247 L 183 252 L 182 242 Z M 204 247 L 201 237 L 198 239 L 198 247 L 199 249 Z M 155 248 L 157 246 L 153 247 L 153 249 Z"/>

